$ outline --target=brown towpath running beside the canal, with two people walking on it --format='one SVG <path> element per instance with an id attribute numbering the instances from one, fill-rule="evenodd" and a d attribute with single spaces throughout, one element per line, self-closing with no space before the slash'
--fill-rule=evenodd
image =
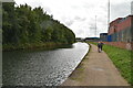
<path id="1" fill-rule="evenodd" d="M 129 86 L 109 56 L 95 45 L 62 86 Z"/>

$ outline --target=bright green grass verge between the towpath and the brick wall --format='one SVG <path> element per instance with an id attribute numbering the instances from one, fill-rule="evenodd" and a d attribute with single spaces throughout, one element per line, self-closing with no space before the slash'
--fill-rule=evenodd
<path id="1" fill-rule="evenodd" d="M 112 59 L 114 65 L 120 70 L 121 75 L 129 81 L 129 84 L 133 86 L 133 68 L 131 59 L 133 51 L 127 51 L 111 45 L 104 45 L 103 51 Z"/>

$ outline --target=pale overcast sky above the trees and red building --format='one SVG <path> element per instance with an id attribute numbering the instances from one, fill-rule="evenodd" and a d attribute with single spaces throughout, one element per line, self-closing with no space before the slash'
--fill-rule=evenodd
<path id="1" fill-rule="evenodd" d="M 109 0 L 14 0 L 17 4 L 28 3 L 32 8 L 42 7 L 53 19 L 70 28 L 76 37 L 96 36 L 108 32 Z M 131 13 L 132 0 L 111 0 L 111 18 L 124 18 Z"/>

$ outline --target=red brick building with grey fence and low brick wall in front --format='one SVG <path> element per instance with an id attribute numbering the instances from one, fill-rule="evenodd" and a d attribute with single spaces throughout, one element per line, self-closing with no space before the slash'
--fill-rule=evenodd
<path id="1" fill-rule="evenodd" d="M 108 32 L 109 45 L 133 50 L 133 15 L 119 18 L 110 23 Z"/>

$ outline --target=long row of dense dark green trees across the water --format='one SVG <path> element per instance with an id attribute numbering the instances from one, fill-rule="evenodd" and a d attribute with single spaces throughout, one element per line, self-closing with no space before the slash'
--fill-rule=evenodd
<path id="1" fill-rule="evenodd" d="M 28 4 L 14 7 L 14 2 L 2 3 L 2 44 L 65 43 L 75 41 L 74 33 L 53 20 L 41 7 Z"/>

